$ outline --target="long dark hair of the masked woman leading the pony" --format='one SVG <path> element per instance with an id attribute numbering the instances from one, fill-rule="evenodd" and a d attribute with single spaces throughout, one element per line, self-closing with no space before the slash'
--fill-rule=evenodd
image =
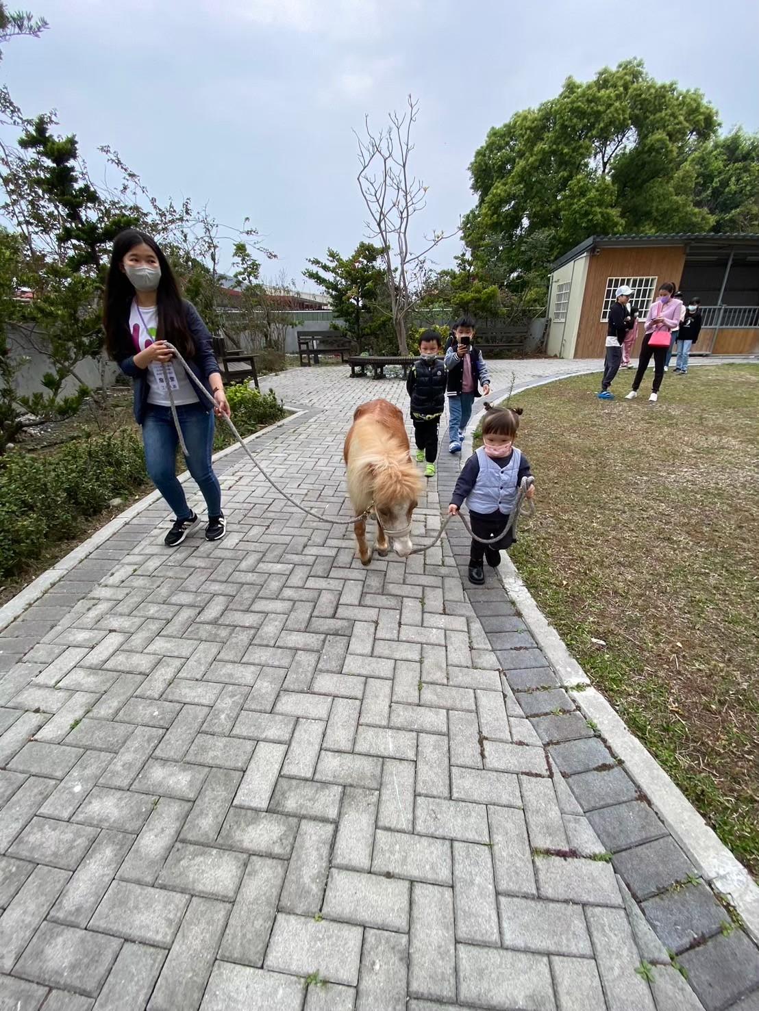
<path id="1" fill-rule="evenodd" d="M 105 348 L 110 357 L 116 360 L 129 358 L 135 353 L 130 337 L 130 308 L 135 297 L 135 287 L 121 270 L 121 262 L 130 250 L 143 243 L 150 246 L 156 254 L 161 268 L 161 280 L 156 292 L 158 340 L 171 341 L 184 358 L 192 358 L 195 347 L 187 330 L 184 304 L 174 272 L 155 239 L 137 228 L 126 228 L 113 240 L 103 305 Z"/>

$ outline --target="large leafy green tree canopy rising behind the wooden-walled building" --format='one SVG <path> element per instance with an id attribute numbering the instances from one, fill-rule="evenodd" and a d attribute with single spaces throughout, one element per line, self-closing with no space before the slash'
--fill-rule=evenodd
<path id="1" fill-rule="evenodd" d="M 478 201 L 465 219 L 475 261 L 517 290 L 539 289 L 551 260 L 591 235 L 751 220 L 756 139 L 729 143 L 719 126 L 699 91 L 655 81 L 640 60 L 585 83 L 569 78 L 556 98 L 491 129 L 475 154 Z"/>

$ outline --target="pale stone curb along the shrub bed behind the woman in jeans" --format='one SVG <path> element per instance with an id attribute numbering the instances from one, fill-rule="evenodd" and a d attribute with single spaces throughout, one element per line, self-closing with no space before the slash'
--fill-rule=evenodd
<path id="1" fill-rule="evenodd" d="M 288 407 L 284 405 L 285 410 L 291 411 L 286 418 L 282 418 L 279 422 L 274 422 L 273 425 L 268 425 L 266 428 L 260 429 L 258 432 L 254 432 L 253 435 L 247 436 L 243 439 L 243 442 L 247 445 L 249 442 L 253 442 L 254 439 L 260 439 L 263 436 L 268 435 L 275 429 L 281 428 L 283 425 L 288 425 L 296 419 L 300 418 L 302 415 L 308 411 L 304 408 Z M 218 460 L 222 460 L 224 457 L 229 456 L 231 453 L 239 452 L 240 446 L 238 443 L 233 443 L 232 446 L 228 446 L 226 449 L 220 450 L 215 453 L 213 460 L 216 463 Z M 183 474 L 179 475 L 180 483 L 190 479 L 190 474 L 188 470 L 185 470 Z M 136 516 L 139 516 L 144 510 L 153 502 L 158 501 L 161 497 L 160 491 L 151 491 L 144 498 L 135 502 L 134 505 L 130 505 L 125 509 L 123 513 L 119 513 L 118 516 L 114 517 L 109 523 L 106 523 L 104 527 L 101 527 L 96 531 L 91 537 L 88 537 L 86 541 L 77 545 L 73 551 L 70 551 L 68 555 L 64 555 L 52 568 L 46 569 L 40 575 L 33 579 L 27 586 L 24 586 L 22 590 L 12 596 L 7 604 L 0 608 L 0 632 L 4 631 L 12 622 L 27 611 L 32 604 L 35 604 L 44 593 L 46 593 L 51 586 L 55 586 L 65 575 L 67 575 L 73 568 L 75 568 L 79 562 L 83 561 L 88 555 L 99 548 L 100 545 L 104 544 L 113 534 L 117 533 L 122 527 L 124 527 L 130 520 L 133 520 Z"/>

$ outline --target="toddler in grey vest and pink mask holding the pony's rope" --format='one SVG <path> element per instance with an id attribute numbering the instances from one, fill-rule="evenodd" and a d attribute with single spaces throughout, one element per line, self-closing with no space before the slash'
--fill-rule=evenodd
<path id="1" fill-rule="evenodd" d="M 491 547 L 472 541 L 469 577 L 476 585 L 485 582 L 483 559 L 497 568 L 501 563 L 500 549 L 514 543 L 513 530 L 507 530 L 509 514 L 516 502 L 519 482 L 531 476 L 529 461 L 514 446 L 521 407 L 493 407 L 489 403 L 485 407 L 484 445 L 461 468 L 448 507 L 448 513 L 455 516 L 467 499 L 473 534 L 494 542 Z M 532 498 L 534 493 L 534 487 L 530 486 L 527 497 Z"/>

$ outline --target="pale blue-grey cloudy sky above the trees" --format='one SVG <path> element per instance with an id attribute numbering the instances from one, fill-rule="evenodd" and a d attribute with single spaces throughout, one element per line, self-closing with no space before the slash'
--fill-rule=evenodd
<path id="1" fill-rule="evenodd" d="M 362 238 L 355 139 L 411 92 L 425 226 L 473 203 L 488 129 L 627 57 L 700 88 L 726 127 L 759 128 L 755 0 L 24 0 L 50 29 L 5 48 L 28 115 L 55 107 L 94 169 L 117 149 L 157 196 L 246 215 L 306 286 L 309 256 Z M 16 6 L 16 4 L 11 4 Z M 449 263 L 455 241 L 438 253 Z"/>

